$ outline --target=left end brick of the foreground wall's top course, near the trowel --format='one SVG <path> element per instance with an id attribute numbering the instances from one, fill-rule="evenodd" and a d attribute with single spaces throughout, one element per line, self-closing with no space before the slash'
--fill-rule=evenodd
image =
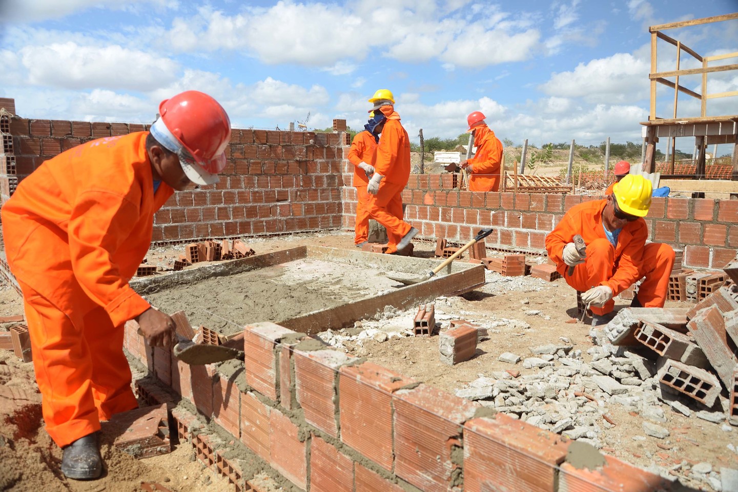
<path id="1" fill-rule="evenodd" d="M 245 330 L 246 383 L 262 395 L 277 401 L 275 347 L 280 339 L 295 332 L 270 322 L 248 325 Z"/>

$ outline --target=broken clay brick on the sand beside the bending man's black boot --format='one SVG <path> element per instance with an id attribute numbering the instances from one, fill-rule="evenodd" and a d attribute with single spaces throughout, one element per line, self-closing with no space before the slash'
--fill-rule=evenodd
<path id="1" fill-rule="evenodd" d="M 106 426 L 118 437 L 114 446 L 136 458 L 149 458 L 172 451 L 167 406 L 145 406 L 113 415 Z"/>

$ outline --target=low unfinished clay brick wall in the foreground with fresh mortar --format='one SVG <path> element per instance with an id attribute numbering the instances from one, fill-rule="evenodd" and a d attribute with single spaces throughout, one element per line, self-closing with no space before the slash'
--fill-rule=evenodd
<path id="1" fill-rule="evenodd" d="M 658 475 L 609 456 L 601 468 L 576 468 L 565 462 L 569 447 L 584 445 L 331 347 L 300 344 L 302 336 L 268 322 L 246 326 L 246 361 L 228 374 L 148 350 L 132 322 L 125 347 L 154 377 L 137 381 L 139 394 L 151 404 L 179 403 L 172 414 L 180 439 L 190 440 L 235 491 L 249 490 L 239 450 L 272 477 L 289 480 L 292 490 L 309 492 L 664 485 Z M 232 440 L 203 429 L 211 419 Z"/>

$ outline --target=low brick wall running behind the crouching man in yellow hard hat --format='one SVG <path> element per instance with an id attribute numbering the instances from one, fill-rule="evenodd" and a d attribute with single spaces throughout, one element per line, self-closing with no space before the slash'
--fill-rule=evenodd
<path id="1" fill-rule="evenodd" d="M 349 163 L 347 166 L 351 167 Z M 342 192 L 343 225 L 354 229 L 356 190 Z M 545 235 L 576 204 L 601 196 L 543 193 L 478 193 L 453 187 L 450 173 L 410 175 L 402 193 L 405 220 L 419 238 L 466 243 L 480 228 L 494 227 L 488 246 L 542 252 Z M 685 266 L 722 268 L 738 249 L 738 200 L 653 198 L 646 217 L 649 239 L 684 249 Z"/>

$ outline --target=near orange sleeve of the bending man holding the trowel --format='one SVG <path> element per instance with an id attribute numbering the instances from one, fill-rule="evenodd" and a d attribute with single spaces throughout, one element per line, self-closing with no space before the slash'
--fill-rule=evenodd
<path id="1" fill-rule="evenodd" d="M 151 308 L 128 285 L 113 263 L 115 252 L 131 235 L 139 207 L 108 190 L 89 190 L 77 199 L 69 218 L 72 271 L 83 290 L 103 306 L 114 325 L 122 325 Z"/>

